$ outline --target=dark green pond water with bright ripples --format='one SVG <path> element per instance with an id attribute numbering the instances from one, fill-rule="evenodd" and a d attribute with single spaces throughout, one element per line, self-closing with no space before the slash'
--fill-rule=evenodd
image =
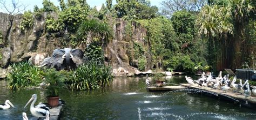
<path id="1" fill-rule="evenodd" d="M 184 76 L 172 76 L 167 83 L 186 83 Z M 29 107 L 23 108 L 32 94 L 45 102 L 43 89 L 10 91 L 0 81 L 0 103 L 10 100 L 16 108 L 0 110 L 0 119 L 22 119 L 22 112 L 31 118 Z M 145 77 L 117 77 L 103 90 L 69 91 L 60 119 L 256 119 L 256 109 L 239 107 L 231 101 L 185 91 L 147 92 Z M 37 104 L 36 103 L 36 104 Z"/>

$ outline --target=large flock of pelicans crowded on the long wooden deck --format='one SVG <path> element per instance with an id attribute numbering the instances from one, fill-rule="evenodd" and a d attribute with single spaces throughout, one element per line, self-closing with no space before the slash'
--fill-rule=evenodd
<path id="1" fill-rule="evenodd" d="M 253 86 L 252 88 L 250 88 L 248 80 L 246 80 L 245 83 L 242 84 L 242 80 L 240 79 L 239 83 L 236 84 L 235 82 L 237 81 L 237 78 L 233 77 L 231 81 L 229 77 L 229 74 L 222 77 L 221 71 L 219 73 L 219 76 L 216 78 L 214 78 L 211 73 L 208 77 L 206 77 L 204 72 L 198 80 L 193 80 L 191 77 L 185 76 L 187 83 L 190 85 L 197 84 L 201 87 L 212 87 L 215 89 L 219 88 L 224 92 L 226 92 L 228 89 L 233 89 L 239 93 L 244 94 L 246 97 L 251 96 L 251 93 L 253 95 L 256 95 L 256 87 Z"/>

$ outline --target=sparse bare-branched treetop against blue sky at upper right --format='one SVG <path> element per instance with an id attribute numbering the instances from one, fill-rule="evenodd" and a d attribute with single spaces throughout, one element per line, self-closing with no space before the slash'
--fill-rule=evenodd
<path id="1" fill-rule="evenodd" d="M 206 0 L 165 0 L 161 2 L 161 13 L 171 18 L 174 12 L 185 10 L 188 12 L 199 11 L 207 3 Z"/>

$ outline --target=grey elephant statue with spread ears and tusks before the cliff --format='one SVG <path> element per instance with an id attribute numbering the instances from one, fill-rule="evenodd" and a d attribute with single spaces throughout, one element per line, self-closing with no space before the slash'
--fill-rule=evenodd
<path id="1" fill-rule="evenodd" d="M 45 58 L 38 67 L 46 66 L 56 70 L 70 70 L 85 62 L 86 59 L 83 56 L 84 52 L 81 49 L 55 49 L 52 56 Z"/>

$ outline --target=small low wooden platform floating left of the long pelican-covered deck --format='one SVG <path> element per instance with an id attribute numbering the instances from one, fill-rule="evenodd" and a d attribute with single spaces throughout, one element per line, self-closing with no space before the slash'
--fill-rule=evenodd
<path id="1" fill-rule="evenodd" d="M 183 86 L 163 86 L 163 87 L 147 87 L 148 91 L 174 91 L 179 89 L 185 89 Z"/>

